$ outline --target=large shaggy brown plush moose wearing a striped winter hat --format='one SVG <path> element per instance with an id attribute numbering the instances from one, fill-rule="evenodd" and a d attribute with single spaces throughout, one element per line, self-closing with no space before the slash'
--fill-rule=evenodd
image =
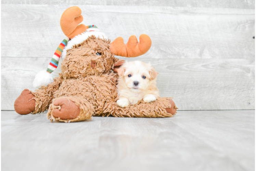
<path id="1" fill-rule="evenodd" d="M 36 75 L 33 84 L 41 88 L 35 92 L 23 90 L 14 103 L 15 111 L 36 114 L 48 109 L 49 119 L 62 122 L 83 121 L 92 116 L 153 118 L 175 115 L 177 107 L 168 97 L 152 103 L 140 101 L 125 108 L 116 104 L 116 70 L 124 60 L 114 56 L 142 55 L 150 49 L 151 39 L 141 35 L 138 42 L 131 36 L 124 44 L 119 37 L 110 43 L 96 26 L 78 25 L 82 20 L 79 7 L 64 11 L 60 24 L 67 37 L 55 51 L 47 72 L 40 71 Z M 57 67 L 60 57 L 64 58 L 62 72 L 52 79 L 50 73 Z"/>

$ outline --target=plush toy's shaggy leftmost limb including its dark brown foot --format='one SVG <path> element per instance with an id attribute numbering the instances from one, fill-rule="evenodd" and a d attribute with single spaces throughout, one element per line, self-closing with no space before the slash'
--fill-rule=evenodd
<path id="1" fill-rule="evenodd" d="M 54 78 L 54 81 L 47 87 L 41 87 L 35 92 L 28 89 L 22 91 L 21 95 L 14 102 L 14 109 L 18 114 L 26 115 L 29 113 L 41 113 L 48 109 L 52 102 L 53 95 L 59 89 L 62 79 L 61 76 Z"/>

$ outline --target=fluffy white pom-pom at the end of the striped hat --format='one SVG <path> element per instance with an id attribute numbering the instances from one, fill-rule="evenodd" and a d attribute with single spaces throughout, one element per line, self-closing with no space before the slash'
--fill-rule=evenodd
<path id="1" fill-rule="evenodd" d="M 53 82 L 53 77 L 50 73 L 48 73 L 46 70 L 39 71 L 35 79 L 33 81 L 33 87 L 34 88 L 40 88 L 42 86 L 48 86 L 48 84 Z"/>

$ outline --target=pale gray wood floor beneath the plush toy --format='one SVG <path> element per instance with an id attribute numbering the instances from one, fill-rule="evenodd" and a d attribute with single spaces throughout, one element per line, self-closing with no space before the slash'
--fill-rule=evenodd
<path id="1" fill-rule="evenodd" d="M 255 110 L 51 123 L 1 111 L 1 170 L 255 170 Z"/>

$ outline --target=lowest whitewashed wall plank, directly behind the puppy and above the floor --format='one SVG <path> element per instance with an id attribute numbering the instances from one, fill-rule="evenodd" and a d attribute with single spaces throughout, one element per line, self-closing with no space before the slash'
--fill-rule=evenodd
<path id="1" fill-rule="evenodd" d="M 120 57 L 120 59 L 127 59 Z M 256 63 L 245 59 L 128 58 L 151 62 L 162 97 L 174 97 L 180 110 L 255 109 Z M 10 61 L 12 61 L 10 63 Z M 50 58 L 1 57 L 1 110 L 14 110 L 22 90 Z M 58 76 L 60 67 L 53 72 Z"/>

